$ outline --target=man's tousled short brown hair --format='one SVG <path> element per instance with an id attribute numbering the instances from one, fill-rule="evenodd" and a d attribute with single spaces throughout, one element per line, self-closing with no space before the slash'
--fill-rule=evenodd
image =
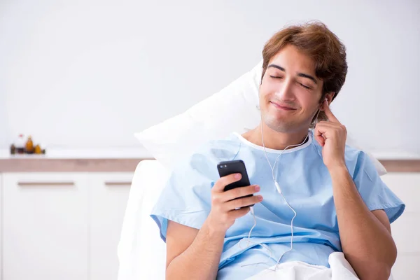
<path id="1" fill-rule="evenodd" d="M 298 50 L 314 60 L 315 75 L 323 80 L 320 102 L 328 92 L 335 92 L 332 97 L 332 100 L 334 100 L 346 80 L 346 47 L 322 22 L 292 25 L 274 34 L 265 43 L 262 50 L 261 83 L 269 60 L 287 44 L 294 45 Z M 327 120 L 323 111 L 319 113 L 318 120 Z M 315 121 L 314 118 L 311 122 L 311 127 L 314 127 Z"/>

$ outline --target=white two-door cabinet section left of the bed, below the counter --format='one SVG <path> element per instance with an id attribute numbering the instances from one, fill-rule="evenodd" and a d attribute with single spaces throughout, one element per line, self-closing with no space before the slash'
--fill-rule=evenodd
<path id="1" fill-rule="evenodd" d="M 0 174 L 1 280 L 117 279 L 118 241 L 133 175 Z"/>

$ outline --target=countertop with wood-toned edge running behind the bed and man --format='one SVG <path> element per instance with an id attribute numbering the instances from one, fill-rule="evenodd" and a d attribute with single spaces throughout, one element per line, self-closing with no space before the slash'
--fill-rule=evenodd
<path id="1" fill-rule="evenodd" d="M 388 172 L 420 172 L 420 156 L 373 153 Z M 1 172 L 134 172 L 153 160 L 145 148 L 48 149 L 45 155 L 10 155 L 0 150 Z"/>

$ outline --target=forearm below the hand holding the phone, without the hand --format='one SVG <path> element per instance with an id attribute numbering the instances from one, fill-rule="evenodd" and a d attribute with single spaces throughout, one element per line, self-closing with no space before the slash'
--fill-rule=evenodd
<path id="1" fill-rule="evenodd" d="M 225 232 L 203 224 L 193 243 L 170 262 L 166 279 L 216 279 Z"/>

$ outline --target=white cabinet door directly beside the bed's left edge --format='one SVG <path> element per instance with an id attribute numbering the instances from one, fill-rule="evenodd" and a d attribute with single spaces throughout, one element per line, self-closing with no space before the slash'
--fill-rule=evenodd
<path id="1" fill-rule="evenodd" d="M 90 280 L 117 279 L 117 247 L 133 175 L 90 174 Z"/>

